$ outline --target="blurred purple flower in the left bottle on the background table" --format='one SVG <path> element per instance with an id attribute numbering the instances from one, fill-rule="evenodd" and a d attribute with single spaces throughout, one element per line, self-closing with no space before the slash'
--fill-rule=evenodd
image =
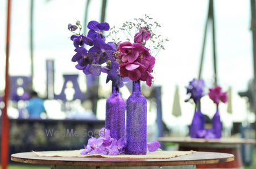
<path id="1" fill-rule="evenodd" d="M 189 99 L 193 99 L 195 103 L 198 103 L 204 96 L 204 87 L 203 79 L 193 79 L 189 82 L 189 85 L 186 87 L 187 94 L 190 94 Z M 185 100 L 185 102 L 188 102 L 189 99 Z"/>

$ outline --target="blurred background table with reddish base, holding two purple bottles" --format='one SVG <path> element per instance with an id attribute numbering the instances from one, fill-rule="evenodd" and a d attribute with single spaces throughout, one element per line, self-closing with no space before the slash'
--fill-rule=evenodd
<path id="1" fill-rule="evenodd" d="M 247 140 L 243 138 L 220 138 L 220 139 L 204 139 L 191 137 L 161 137 L 160 142 L 174 142 L 179 144 L 181 151 L 210 151 L 218 153 L 234 154 L 236 159 L 230 163 L 222 164 L 199 164 L 197 168 L 243 168 L 241 158 L 241 144 L 255 144 L 255 140 Z"/>

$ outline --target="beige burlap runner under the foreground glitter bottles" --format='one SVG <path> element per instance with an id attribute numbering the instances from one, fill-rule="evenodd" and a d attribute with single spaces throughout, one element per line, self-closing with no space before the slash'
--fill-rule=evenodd
<path id="1" fill-rule="evenodd" d="M 82 150 L 69 150 L 69 151 L 43 151 L 35 152 L 36 155 L 42 157 L 105 157 L 105 158 L 149 158 L 149 159 L 164 159 L 164 158 L 174 158 L 181 155 L 188 155 L 196 153 L 196 151 L 155 151 L 148 152 L 146 155 L 101 155 L 101 154 L 92 154 L 92 155 L 81 155 Z"/>

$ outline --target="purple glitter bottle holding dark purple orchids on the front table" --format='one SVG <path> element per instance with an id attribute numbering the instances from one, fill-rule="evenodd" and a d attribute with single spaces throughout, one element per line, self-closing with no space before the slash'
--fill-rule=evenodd
<path id="1" fill-rule="evenodd" d="M 105 128 L 110 130 L 112 138 L 118 140 L 125 136 L 125 100 L 114 83 L 112 83 L 112 94 L 106 100 Z"/>

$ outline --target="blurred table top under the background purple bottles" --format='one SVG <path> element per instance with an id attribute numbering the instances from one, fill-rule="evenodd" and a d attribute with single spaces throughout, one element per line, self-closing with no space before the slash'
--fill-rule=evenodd
<path id="1" fill-rule="evenodd" d="M 175 143 L 221 143 L 229 145 L 239 145 L 239 144 L 255 144 L 254 139 L 245 139 L 237 137 L 226 137 L 220 139 L 205 139 L 205 138 L 191 138 L 191 137 L 160 137 L 158 141 L 161 142 L 175 142 Z"/>

